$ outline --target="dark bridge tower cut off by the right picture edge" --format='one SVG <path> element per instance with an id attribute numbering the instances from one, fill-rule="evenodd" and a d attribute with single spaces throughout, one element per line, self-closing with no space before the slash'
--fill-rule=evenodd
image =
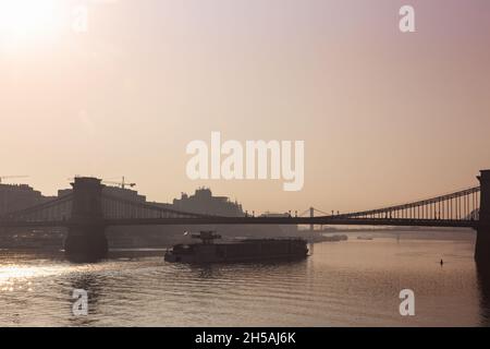
<path id="1" fill-rule="evenodd" d="M 482 170 L 477 178 L 480 181 L 480 212 L 475 260 L 490 269 L 490 170 Z"/>

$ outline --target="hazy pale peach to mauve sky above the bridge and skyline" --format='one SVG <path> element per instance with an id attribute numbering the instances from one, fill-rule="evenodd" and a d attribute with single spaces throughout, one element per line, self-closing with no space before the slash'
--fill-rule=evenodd
<path id="1" fill-rule="evenodd" d="M 16 4 L 12 4 L 16 3 Z M 19 3 L 24 5 L 20 7 Z M 88 4 L 88 32 L 71 28 Z M 399 9 L 416 10 L 416 33 Z M 0 0 L 0 176 L 252 210 L 373 208 L 490 168 L 488 0 Z M 11 11 L 12 13 L 9 13 Z M 305 185 L 191 181 L 193 140 L 305 141 Z"/>

